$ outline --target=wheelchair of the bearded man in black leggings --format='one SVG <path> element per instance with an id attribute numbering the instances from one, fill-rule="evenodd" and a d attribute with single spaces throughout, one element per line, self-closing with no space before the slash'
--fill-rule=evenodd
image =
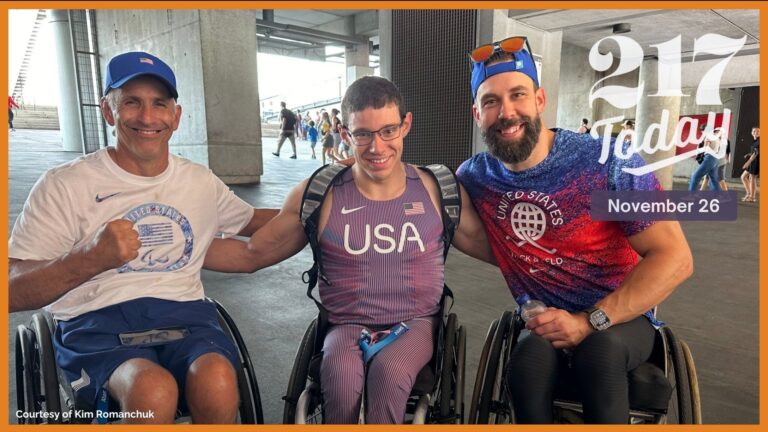
<path id="1" fill-rule="evenodd" d="M 525 323 L 506 311 L 494 320 L 480 354 L 469 423 L 514 423 L 514 412 L 503 368 Z M 555 390 L 556 423 L 583 423 L 578 395 Z M 674 394 L 673 394 L 674 393 Z M 701 424 L 701 399 L 691 350 L 669 327 L 656 332 L 649 360 L 629 372 L 631 424 Z"/>

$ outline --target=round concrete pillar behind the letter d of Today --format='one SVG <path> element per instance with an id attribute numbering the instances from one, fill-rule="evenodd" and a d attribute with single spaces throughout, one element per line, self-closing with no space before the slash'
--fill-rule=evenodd
<path id="1" fill-rule="evenodd" d="M 636 148 L 656 149 L 653 153 L 640 152 L 648 164 L 675 155 L 676 147 L 670 143 L 676 139 L 675 129 L 680 117 L 680 96 L 650 96 L 658 91 L 658 70 L 659 60 L 644 60 L 640 65 L 640 82 L 644 84 L 644 90 L 637 105 L 637 141 L 633 145 Z M 673 166 L 654 173 L 664 189 L 672 189 Z"/>

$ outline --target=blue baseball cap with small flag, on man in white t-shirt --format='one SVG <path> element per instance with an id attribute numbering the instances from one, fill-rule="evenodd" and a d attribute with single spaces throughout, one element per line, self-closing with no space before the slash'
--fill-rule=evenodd
<path id="1" fill-rule="evenodd" d="M 168 87 L 174 99 L 179 98 L 179 92 L 176 91 L 176 75 L 173 74 L 170 66 L 152 54 L 140 51 L 112 57 L 107 64 L 107 84 L 104 86 L 104 94 L 122 87 L 141 75 L 151 75 L 159 79 Z"/>

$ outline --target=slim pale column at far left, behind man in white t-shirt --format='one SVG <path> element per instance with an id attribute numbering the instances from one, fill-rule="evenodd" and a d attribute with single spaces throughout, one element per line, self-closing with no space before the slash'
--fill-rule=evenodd
<path id="1" fill-rule="evenodd" d="M 59 127 L 65 151 L 83 152 L 83 129 L 80 123 L 80 100 L 77 95 L 75 62 L 66 10 L 48 11 L 56 45 L 56 70 L 59 74 Z"/>

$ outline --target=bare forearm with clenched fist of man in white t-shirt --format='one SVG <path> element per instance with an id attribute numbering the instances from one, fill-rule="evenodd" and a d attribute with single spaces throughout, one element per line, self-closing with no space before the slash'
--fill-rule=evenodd
<path id="1" fill-rule="evenodd" d="M 138 256 L 141 247 L 133 223 L 114 220 L 94 240 L 47 261 L 8 260 L 10 312 L 39 309 L 104 271 Z"/>

